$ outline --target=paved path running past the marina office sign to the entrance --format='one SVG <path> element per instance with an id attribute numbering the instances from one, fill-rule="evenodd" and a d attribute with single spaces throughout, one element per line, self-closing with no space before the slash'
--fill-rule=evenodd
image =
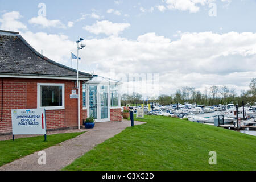
<path id="1" fill-rule="evenodd" d="M 134 122 L 142 125 L 143 122 Z M 56 146 L 49 147 L 46 152 L 46 165 L 39 165 L 38 152 L 15 160 L 0 167 L 0 171 L 57 171 L 71 164 L 75 159 L 92 150 L 97 144 L 121 133 L 126 127 L 130 127 L 129 121 L 96 123 L 94 129 L 76 138 L 67 140 Z"/>

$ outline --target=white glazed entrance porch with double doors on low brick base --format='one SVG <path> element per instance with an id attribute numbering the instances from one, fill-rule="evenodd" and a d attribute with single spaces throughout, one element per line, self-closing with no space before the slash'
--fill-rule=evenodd
<path id="1" fill-rule="evenodd" d="M 96 122 L 122 121 L 121 82 L 94 76 L 82 85 L 83 110 Z"/>

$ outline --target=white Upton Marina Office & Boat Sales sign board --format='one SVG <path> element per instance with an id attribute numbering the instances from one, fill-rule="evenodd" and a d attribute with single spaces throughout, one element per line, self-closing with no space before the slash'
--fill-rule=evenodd
<path id="1" fill-rule="evenodd" d="M 13 135 L 45 135 L 45 109 L 15 109 L 11 110 Z"/>

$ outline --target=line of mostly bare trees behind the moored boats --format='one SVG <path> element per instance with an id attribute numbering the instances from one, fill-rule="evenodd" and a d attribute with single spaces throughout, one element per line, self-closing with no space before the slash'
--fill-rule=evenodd
<path id="1" fill-rule="evenodd" d="M 210 88 L 205 88 L 204 92 L 200 92 L 193 87 L 185 86 L 177 89 L 174 94 L 167 95 L 162 94 L 158 98 L 151 98 L 148 102 L 158 102 L 161 105 L 197 103 L 198 105 L 218 105 L 218 104 L 239 104 L 242 105 L 242 101 L 246 103 L 256 102 L 256 78 L 253 78 L 249 85 L 249 90 L 242 90 L 241 95 L 238 96 L 235 88 L 228 88 L 228 86 L 216 86 L 213 85 Z M 133 93 L 131 95 L 123 94 L 121 97 L 121 104 L 126 105 L 138 105 L 142 104 L 142 95 L 139 93 Z"/>

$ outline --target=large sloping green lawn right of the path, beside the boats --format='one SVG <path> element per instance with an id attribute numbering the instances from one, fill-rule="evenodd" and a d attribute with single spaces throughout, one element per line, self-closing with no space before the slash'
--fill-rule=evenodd
<path id="1" fill-rule="evenodd" d="M 181 119 L 146 116 L 64 170 L 256 170 L 256 137 Z M 209 152 L 217 152 L 210 166 Z"/>

